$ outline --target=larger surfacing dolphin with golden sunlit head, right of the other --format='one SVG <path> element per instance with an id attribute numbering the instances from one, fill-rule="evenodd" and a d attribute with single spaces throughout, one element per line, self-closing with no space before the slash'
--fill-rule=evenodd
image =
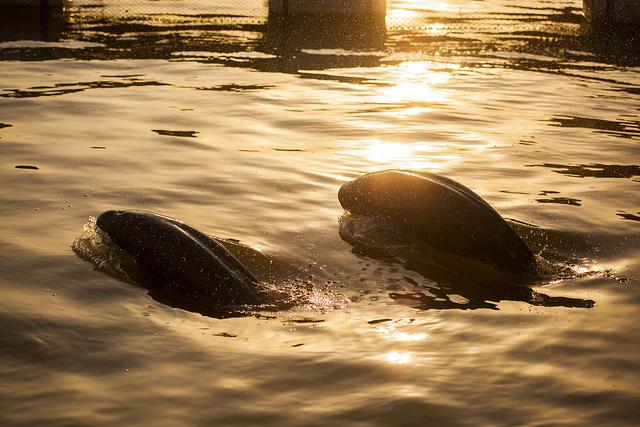
<path id="1" fill-rule="evenodd" d="M 382 217 L 438 251 L 516 275 L 537 276 L 534 256 L 480 196 L 428 172 L 387 170 L 361 176 L 338 193 L 352 215 Z"/>

